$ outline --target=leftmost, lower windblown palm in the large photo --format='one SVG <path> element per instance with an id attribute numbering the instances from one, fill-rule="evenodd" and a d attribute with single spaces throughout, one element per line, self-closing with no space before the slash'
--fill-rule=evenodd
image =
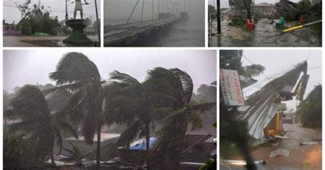
<path id="1" fill-rule="evenodd" d="M 51 157 L 54 164 L 54 143 L 62 151 L 62 130 L 77 138 L 77 134 L 69 125 L 56 114 L 51 114 L 47 100 L 42 91 L 34 85 L 25 85 L 11 102 L 12 109 L 5 114 L 10 119 L 20 120 L 9 125 L 9 132 L 25 134 L 30 140 L 36 141 L 35 156 L 40 164 Z"/>

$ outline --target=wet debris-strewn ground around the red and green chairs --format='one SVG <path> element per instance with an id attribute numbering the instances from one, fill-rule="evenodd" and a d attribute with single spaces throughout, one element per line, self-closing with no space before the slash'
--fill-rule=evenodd
<path id="1" fill-rule="evenodd" d="M 221 34 L 217 34 L 217 23 L 213 21 L 213 47 L 320 47 L 320 40 L 311 29 L 304 27 L 286 34 L 280 33 L 268 19 L 260 19 L 254 31 L 232 27 L 230 21 L 221 21 Z M 298 23 L 286 23 L 296 25 Z"/>

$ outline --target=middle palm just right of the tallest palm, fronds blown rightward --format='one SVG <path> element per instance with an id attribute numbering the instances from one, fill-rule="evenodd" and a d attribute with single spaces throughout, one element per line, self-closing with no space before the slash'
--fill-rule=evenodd
<path id="1" fill-rule="evenodd" d="M 108 124 L 128 125 L 115 148 L 129 147 L 130 142 L 139 134 L 139 138 L 145 137 L 148 160 L 150 129 L 154 129 L 154 124 L 170 112 L 171 108 L 161 104 L 165 101 L 164 94 L 150 90 L 152 84 L 148 81 L 149 78 L 141 83 L 119 71 L 113 71 L 110 75 L 110 93 L 105 99 L 106 121 Z"/>

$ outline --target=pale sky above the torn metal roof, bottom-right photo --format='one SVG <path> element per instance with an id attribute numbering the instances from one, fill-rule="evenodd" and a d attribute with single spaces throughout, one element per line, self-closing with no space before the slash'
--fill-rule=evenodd
<path id="1" fill-rule="evenodd" d="M 256 80 L 265 80 L 277 73 L 283 73 L 294 65 L 307 60 L 308 71 L 310 75 L 309 82 L 306 87 L 306 97 L 311 90 L 317 85 L 322 84 L 322 51 L 320 50 L 244 50 L 243 56 L 248 58 L 254 64 L 265 66 L 264 74 L 254 77 Z M 252 64 L 244 57 L 243 65 Z M 266 76 L 267 77 L 266 77 Z M 289 108 L 296 108 L 296 100 L 288 101 Z"/>

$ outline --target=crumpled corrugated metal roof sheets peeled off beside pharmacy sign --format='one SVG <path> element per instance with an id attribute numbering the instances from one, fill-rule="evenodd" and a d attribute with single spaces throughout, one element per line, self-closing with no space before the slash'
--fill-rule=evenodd
<path id="1" fill-rule="evenodd" d="M 237 108 L 241 112 L 237 118 L 248 121 L 248 132 L 253 138 L 265 137 L 264 128 L 283 105 L 275 102 L 277 99 L 287 101 L 293 96 L 300 100 L 303 98 L 309 78 L 306 75 L 307 65 L 306 61 L 300 62 L 289 71 L 243 88 L 245 106 Z"/>

